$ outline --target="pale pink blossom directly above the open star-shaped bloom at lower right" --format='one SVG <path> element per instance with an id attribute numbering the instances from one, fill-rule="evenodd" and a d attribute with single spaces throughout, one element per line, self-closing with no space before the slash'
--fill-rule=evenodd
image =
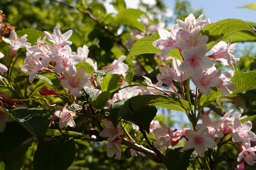
<path id="1" fill-rule="evenodd" d="M 195 129 L 199 130 L 202 127 L 207 127 L 209 130 L 209 137 L 222 138 L 224 134 L 219 129 L 222 124 L 222 120 L 211 121 L 208 115 L 202 115 L 202 124 L 196 125 Z"/>

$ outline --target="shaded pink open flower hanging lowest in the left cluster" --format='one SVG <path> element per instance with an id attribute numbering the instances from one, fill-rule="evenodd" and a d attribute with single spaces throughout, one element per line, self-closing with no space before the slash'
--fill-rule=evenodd
<path id="1" fill-rule="evenodd" d="M 89 86 L 91 84 L 91 82 L 88 79 L 83 78 L 84 72 L 84 67 L 81 67 L 77 70 L 75 77 L 64 72 L 65 79 L 60 80 L 61 85 L 64 88 L 69 89 L 72 95 L 79 96 L 81 94 L 81 90 L 83 89 L 83 87 Z"/>

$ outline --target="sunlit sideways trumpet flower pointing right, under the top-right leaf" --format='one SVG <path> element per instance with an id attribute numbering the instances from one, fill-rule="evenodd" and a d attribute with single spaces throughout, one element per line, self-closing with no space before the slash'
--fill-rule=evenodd
<path id="1" fill-rule="evenodd" d="M 231 44 L 231 38 L 228 44 L 226 42 L 219 42 L 214 47 L 212 47 L 212 50 L 214 53 L 212 55 L 209 55 L 211 59 L 220 61 L 220 63 L 226 67 L 228 65 L 233 71 L 235 70 L 233 63 L 236 63 L 240 59 L 236 59 L 234 56 L 233 51 L 236 49 L 237 43 Z"/>

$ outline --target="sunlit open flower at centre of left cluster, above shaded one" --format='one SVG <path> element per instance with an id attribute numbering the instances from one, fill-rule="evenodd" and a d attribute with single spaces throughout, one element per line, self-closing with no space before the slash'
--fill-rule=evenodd
<path id="1" fill-rule="evenodd" d="M 54 67 L 54 72 L 66 72 L 71 76 L 74 76 L 77 72 L 75 65 L 83 61 L 83 56 L 72 54 L 69 45 L 65 45 L 59 54 L 52 55 L 52 57 L 54 61 L 57 62 Z"/>

